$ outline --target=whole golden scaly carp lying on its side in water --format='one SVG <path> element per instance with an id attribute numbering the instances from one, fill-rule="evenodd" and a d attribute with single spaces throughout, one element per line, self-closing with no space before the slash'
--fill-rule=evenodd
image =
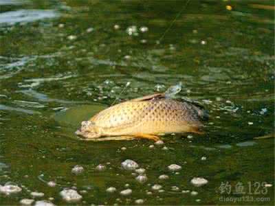
<path id="1" fill-rule="evenodd" d="M 192 102 L 171 99 L 180 91 L 170 87 L 166 93 L 115 104 L 84 121 L 76 135 L 87 139 L 129 139 L 133 137 L 157 140 L 160 133 L 201 133 L 201 119 L 207 113 Z M 101 138 L 102 139 L 102 138 Z"/>

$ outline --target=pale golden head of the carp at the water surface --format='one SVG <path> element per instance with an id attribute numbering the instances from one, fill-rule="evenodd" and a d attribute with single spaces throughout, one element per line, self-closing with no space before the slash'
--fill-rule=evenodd
<path id="1" fill-rule="evenodd" d="M 76 130 L 76 135 L 87 139 L 95 139 L 102 136 L 102 129 L 91 121 L 81 122 L 81 127 Z"/>

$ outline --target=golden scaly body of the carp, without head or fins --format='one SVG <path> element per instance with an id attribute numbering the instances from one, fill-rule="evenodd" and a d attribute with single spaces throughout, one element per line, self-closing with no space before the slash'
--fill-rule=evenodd
<path id="1" fill-rule="evenodd" d="M 170 99 L 123 102 L 90 121 L 106 136 L 184 133 L 202 126 L 197 106 Z"/>

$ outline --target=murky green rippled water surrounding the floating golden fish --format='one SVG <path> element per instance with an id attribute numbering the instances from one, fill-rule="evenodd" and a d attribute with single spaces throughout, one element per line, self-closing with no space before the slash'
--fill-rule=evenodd
<path id="1" fill-rule="evenodd" d="M 273 205 L 274 138 L 253 139 L 274 133 L 272 3 L 190 1 L 179 14 L 186 1 L 0 0 L 0 185 L 22 188 L 0 194 L 1 205 L 31 192 L 69 204 L 59 194 L 65 187 L 83 196 L 79 205 Z M 153 148 L 140 139 L 74 137 L 115 97 L 179 81 L 181 97 L 210 111 L 206 135 L 166 136 Z M 125 159 L 146 169 L 146 183 L 122 170 Z M 181 170 L 170 172 L 172 163 Z M 74 165 L 84 172 L 73 174 Z M 197 176 L 208 183 L 195 187 Z M 126 188 L 133 192 L 122 196 Z"/>

